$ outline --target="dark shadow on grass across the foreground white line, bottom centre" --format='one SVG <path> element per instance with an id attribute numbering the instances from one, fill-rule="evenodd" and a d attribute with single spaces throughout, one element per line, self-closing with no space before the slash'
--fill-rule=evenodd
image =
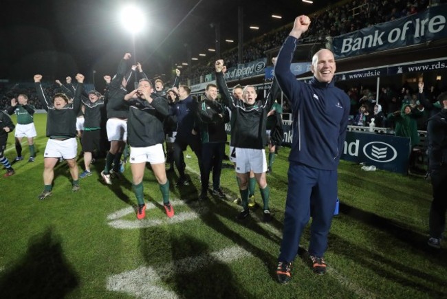
<path id="1" fill-rule="evenodd" d="M 174 274 L 169 280 L 173 280 L 175 292 L 180 297 L 254 298 L 237 283 L 228 265 L 212 256 L 205 243 L 190 236 L 180 236 L 171 240 L 171 244 L 174 261 L 201 253 L 195 263 L 188 263 L 187 267 L 174 263 Z"/>

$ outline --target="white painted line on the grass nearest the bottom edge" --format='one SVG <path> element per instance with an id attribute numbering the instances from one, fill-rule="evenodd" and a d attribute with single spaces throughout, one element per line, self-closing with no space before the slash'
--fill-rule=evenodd
<path id="1" fill-rule="evenodd" d="M 124 292 L 139 298 L 179 298 L 175 292 L 158 286 L 160 280 L 164 280 L 176 273 L 193 272 L 216 262 L 230 263 L 248 256 L 252 256 L 252 254 L 242 247 L 234 246 L 218 252 L 201 254 L 193 258 L 183 258 L 179 261 L 167 263 L 162 267 L 140 267 L 110 276 L 107 280 L 107 289 L 109 291 Z"/>

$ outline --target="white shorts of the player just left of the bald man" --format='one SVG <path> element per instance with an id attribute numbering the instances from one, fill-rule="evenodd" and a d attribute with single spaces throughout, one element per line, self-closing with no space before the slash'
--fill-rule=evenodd
<path id="1" fill-rule="evenodd" d="M 267 161 L 264 149 L 236 148 L 236 172 L 237 173 L 265 173 Z"/>

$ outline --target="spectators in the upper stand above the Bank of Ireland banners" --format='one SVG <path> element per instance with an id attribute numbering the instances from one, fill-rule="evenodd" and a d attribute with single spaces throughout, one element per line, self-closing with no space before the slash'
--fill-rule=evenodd
<path id="1" fill-rule="evenodd" d="M 350 1 L 345 4 L 338 3 L 333 8 L 324 12 L 317 12 L 311 16 L 312 26 L 303 34 L 303 43 L 315 43 L 325 41 L 327 36 L 339 36 L 364 27 L 378 23 L 394 21 L 404 16 L 422 12 L 430 5 L 429 0 L 362 0 Z M 281 47 L 285 37 L 289 34 L 292 23 L 283 28 L 264 34 L 244 45 L 241 63 L 265 57 L 265 51 Z M 237 47 L 222 54 L 227 68 L 236 67 L 238 63 Z M 212 73 L 214 58 L 206 63 L 193 65 L 186 74 L 189 78 L 199 78 L 204 74 Z"/>

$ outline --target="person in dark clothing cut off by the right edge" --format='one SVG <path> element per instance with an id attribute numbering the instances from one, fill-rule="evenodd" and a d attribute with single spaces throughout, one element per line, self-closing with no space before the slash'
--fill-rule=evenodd
<path id="1" fill-rule="evenodd" d="M 441 112 L 428 120 L 429 137 L 428 157 L 430 176 L 433 188 L 433 201 L 430 206 L 430 239 L 428 245 L 441 248 L 441 237 L 446 230 L 447 210 L 447 92 L 438 96 Z"/>

